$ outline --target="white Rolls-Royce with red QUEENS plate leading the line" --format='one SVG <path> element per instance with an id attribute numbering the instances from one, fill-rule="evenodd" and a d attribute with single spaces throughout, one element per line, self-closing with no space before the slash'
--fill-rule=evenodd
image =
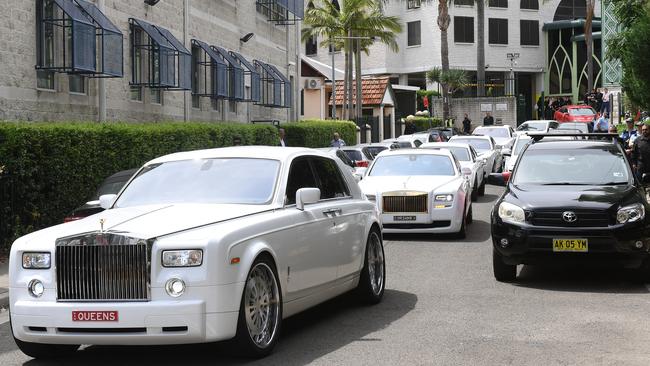
<path id="1" fill-rule="evenodd" d="M 27 355 L 235 337 L 264 356 L 283 318 L 349 290 L 383 296 L 377 207 L 322 152 L 171 154 L 100 201 L 107 210 L 11 247 L 11 324 Z"/>

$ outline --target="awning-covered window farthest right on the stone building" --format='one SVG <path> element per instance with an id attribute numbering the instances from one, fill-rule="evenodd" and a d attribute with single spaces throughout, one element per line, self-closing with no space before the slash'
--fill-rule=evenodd
<path id="1" fill-rule="evenodd" d="M 261 95 L 256 104 L 272 108 L 291 107 L 291 82 L 275 66 L 255 60 L 260 70 Z"/>

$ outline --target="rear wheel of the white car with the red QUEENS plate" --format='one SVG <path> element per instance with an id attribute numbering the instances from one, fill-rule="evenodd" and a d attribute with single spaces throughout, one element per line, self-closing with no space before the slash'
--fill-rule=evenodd
<path id="1" fill-rule="evenodd" d="M 384 297 L 386 288 L 385 258 L 381 234 L 379 230 L 372 229 L 368 234 L 363 269 L 357 286 L 357 295 L 365 304 L 377 304 Z"/>

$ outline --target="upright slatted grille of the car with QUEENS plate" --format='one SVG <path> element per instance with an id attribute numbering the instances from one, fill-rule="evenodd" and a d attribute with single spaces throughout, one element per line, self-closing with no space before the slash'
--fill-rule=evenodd
<path id="1" fill-rule="evenodd" d="M 149 299 L 146 242 L 119 245 L 57 245 L 59 301 Z"/>

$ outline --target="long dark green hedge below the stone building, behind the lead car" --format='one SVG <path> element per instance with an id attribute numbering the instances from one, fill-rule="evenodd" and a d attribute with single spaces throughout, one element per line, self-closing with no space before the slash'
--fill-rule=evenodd
<path id="1" fill-rule="evenodd" d="M 168 153 L 276 145 L 277 128 L 237 123 L 0 123 L 0 252 L 61 223 L 107 176 Z"/>

